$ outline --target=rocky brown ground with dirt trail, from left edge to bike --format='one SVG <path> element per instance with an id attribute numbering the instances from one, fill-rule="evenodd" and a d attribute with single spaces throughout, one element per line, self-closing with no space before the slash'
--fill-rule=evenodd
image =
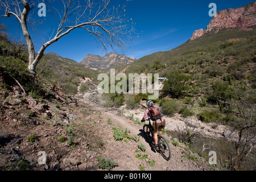
<path id="1" fill-rule="evenodd" d="M 40 101 L 23 97 L 18 87 L 13 89 L 13 93 L 0 90 L 4 96 L 0 112 L 1 170 L 106 170 L 98 166 L 100 158 L 105 157 L 116 163 L 113 171 L 209 169 L 207 160 L 182 143 L 174 146 L 167 134 L 164 136 L 170 141 L 171 159 L 166 161 L 156 152 L 144 139 L 143 124 L 127 117 L 134 114 L 141 119 L 143 109 L 120 112 L 102 107 L 92 102 L 97 100 L 92 99 L 95 90 L 83 97 L 69 97 L 54 88 L 48 100 Z M 172 122 L 167 118 L 167 126 Z M 131 138 L 115 141 L 114 127 L 129 131 Z M 139 150 L 142 144 L 145 151 Z M 140 159 L 139 153 L 147 157 Z"/>

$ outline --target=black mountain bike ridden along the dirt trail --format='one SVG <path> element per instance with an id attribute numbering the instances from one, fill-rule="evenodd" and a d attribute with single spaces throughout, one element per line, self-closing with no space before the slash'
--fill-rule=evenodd
<path id="1" fill-rule="evenodd" d="M 154 133 L 152 130 L 152 124 L 151 124 L 151 120 L 150 118 L 145 119 L 145 121 L 148 121 L 148 124 L 145 124 L 143 126 L 143 131 L 145 134 L 145 138 L 146 141 L 148 143 L 153 143 L 154 142 Z M 152 144 L 152 146 L 155 146 L 154 144 Z M 159 135 L 158 133 L 158 148 L 159 148 L 159 152 L 160 154 L 163 156 L 164 159 L 166 159 L 167 161 L 171 159 L 171 147 L 168 143 L 168 140 L 166 138 L 163 137 L 163 135 Z"/>

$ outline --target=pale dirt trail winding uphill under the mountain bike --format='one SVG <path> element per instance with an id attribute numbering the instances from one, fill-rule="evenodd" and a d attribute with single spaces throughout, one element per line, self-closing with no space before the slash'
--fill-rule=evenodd
<path id="1" fill-rule="evenodd" d="M 108 118 L 112 120 L 112 124 L 109 125 L 105 122 L 101 128 L 101 137 L 104 138 L 105 151 L 102 156 L 106 156 L 118 163 L 118 167 L 113 168 L 114 170 L 139 170 L 139 166 L 143 166 L 146 170 L 154 171 L 186 171 L 186 170 L 207 170 L 206 160 L 201 158 L 197 154 L 193 154 L 191 151 L 185 151 L 183 144 L 175 147 L 172 144 L 171 138 L 167 135 L 166 137 L 170 142 L 172 157 L 170 161 L 166 161 L 158 152 L 151 148 L 150 144 L 146 142 L 143 135 L 143 125 L 135 124 L 133 120 L 126 118 L 124 115 L 118 113 L 118 109 L 106 109 L 100 105 L 90 102 L 86 98 L 80 98 L 79 102 L 86 104 L 86 108 L 93 111 L 100 111 L 102 120 L 106 121 Z M 128 140 L 127 143 L 122 141 L 115 141 L 113 138 L 112 127 L 121 126 L 123 129 L 130 131 L 129 135 L 141 135 L 139 142 L 134 140 Z M 135 151 L 138 144 L 144 144 L 146 151 L 143 154 L 148 154 L 148 159 L 141 160 L 135 158 L 137 152 Z M 184 158 L 185 156 L 196 156 L 197 161 Z M 154 160 L 155 165 L 151 167 L 148 163 L 149 160 Z"/>

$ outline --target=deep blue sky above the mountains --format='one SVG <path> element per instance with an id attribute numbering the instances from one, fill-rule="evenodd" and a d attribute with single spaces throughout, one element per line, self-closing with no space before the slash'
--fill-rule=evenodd
<path id="1" fill-rule="evenodd" d="M 118 5 L 123 0 L 113 0 Z M 212 19 L 208 15 L 209 3 L 216 3 L 217 11 L 247 5 L 251 0 L 200 0 L 200 1 L 171 1 L 171 0 L 129 0 L 126 9 L 126 17 L 136 23 L 135 30 L 139 33 L 133 43 L 129 45 L 126 56 L 139 59 L 158 51 L 167 51 L 186 42 L 195 30 L 207 27 Z M 55 6 L 62 6 L 59 0 Z M 46 17 L 41 17 L 43 25 L 38 34 L 32 30 L 31 36 L 36 51 L 44 43 L 43 38 L 51 36 L 53 28 L 57 28 L 58 22 L 47 12 Z M 18 22 L 14 17 L 1 18 L 0 23 L 7 27 L 7 33 L 22 35 Z M 47 34 L 47 35 L 46 35 Z M 42 38 L 43 37 L 43 38 Z M 118 51 L 118 50 L 117 50 Z M 106 52 L 97 46 L 95 40 L 84 30 L 75 30 L 61 38 L 58 42 L 47 47 L 45 52 L 55 52 L 62 57 L 68 57 L 80 62 L 88 53 L 105 56 Z M 113 52 L 109 49 L 109 52 Z M 117 53 L 123 53 L 118 51 Z"/>

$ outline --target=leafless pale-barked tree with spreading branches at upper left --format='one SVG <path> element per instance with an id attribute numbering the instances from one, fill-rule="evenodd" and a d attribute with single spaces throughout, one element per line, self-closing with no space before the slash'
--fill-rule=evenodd
<path id="1" fill-rule="evenodd" d="M 35 53 L 30 32 L 28 32 L 28 23 L 31 21 L 29 15 L 33 15 L 31 12 L 38 6 L 39 2 L 36 3 L 32 0 L 0 1 L 0 13 L 2 14 L 0 18 L 13 15 L 21 25 L 28 48 L 28 71 L 30 71 L 33 82 L 36 76 L 36 65 L 43 57 L 46 48 L 77 28 L 83 28 L 89 32 L 105 51 L 108 46 L 113 51 L 116 51 L 116 47 L 123 50 L 131 41 L 135 24 L 131 19 L 127 20 L 125 17 L 126 5 L 114 7 L 111 5 L 112 0 L 62 0 L 61 2 L 63 3 L 63 10 L 51 7 L 51 3 L 47 3 L 47 9 L 52 9 L 50 12 L 59 15 L 60 23 L 53 29 L 53 34 L 49 36 L 49 40 Z M 37 15 L 37 13 L 34 14 Z"/>

